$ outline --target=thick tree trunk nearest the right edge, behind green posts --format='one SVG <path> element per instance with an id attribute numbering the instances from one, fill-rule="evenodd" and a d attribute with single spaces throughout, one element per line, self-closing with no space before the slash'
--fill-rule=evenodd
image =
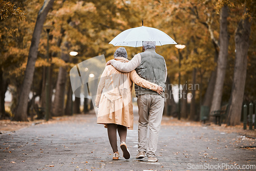
<path id="1" fill-rule="evenodd" d="M 228 125 L 240 124 L 246 79 L 250 26 L 251 23 L 249 22 L 248 17 L 241 19 L 234 37 L 237 52 L 234 63 L 234 78 L 230 97 L 231 105 L 226 120 Z"/>

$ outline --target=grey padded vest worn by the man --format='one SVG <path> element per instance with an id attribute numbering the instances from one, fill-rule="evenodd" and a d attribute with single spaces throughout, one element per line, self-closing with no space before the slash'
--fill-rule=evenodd
<path id="1" fill-rule="evenodd" d="M 147 49 L 145 52 L 140 53 L 141 62 L 140 65 L 135 69 L 138 75 L 141 78 L 146 79 L 147 81 L 158 84 L 158 86 L 163 87 L 163 93 L 161 94 L 164 97 L 165 91 L 165 61 L 163 56 L 157 54 L 154 49 Z M 156 94 L 150 89 L 145 89 L 139 87 L 135 84 L 136 96 L 142 94 Z"/>

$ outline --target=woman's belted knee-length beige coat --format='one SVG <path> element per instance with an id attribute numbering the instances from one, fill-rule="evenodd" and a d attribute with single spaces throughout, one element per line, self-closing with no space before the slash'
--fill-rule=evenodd
<path id="1" fill-rule="evenodd" d="M 116 57 L 115 60 L 129 62 L 124 57 Z M 158 85 L 141 78 L 136 71 L 122 73 L 112 65 L 106 66 L 103 71 L 97 89 L 95 99 L 99 106 L 97 123 L 115 123 L 133 129 L 133 82 L 138 86 L 157 91 Z"/>

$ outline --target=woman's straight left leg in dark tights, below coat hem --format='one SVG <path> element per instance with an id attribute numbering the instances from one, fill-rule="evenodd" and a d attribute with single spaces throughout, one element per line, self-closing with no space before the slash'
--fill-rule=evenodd
<path id="1" fill-rule="evenodd" d="M 111 145 L 114 153 L 118 152 L 116 129 L 117 129 L 117 124 L 108 123 L 108 135 L 109 135 L 110 145 Z"/>

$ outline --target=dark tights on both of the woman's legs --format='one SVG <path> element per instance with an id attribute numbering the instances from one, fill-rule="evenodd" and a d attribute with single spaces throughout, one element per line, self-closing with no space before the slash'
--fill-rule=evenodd
<path id="1" fill-rule="evenodd" d="M 114 153 L 118 152 L 116 130 L 118 131 L 120 141 L 125 142 L 126 134 L 127 134 L 127 127 L 123 126 L 123 125 L 117 125 L 115 123 L 108 123 L 108 135 L 109 135 L 110 145 L 111 145 Z"/>

